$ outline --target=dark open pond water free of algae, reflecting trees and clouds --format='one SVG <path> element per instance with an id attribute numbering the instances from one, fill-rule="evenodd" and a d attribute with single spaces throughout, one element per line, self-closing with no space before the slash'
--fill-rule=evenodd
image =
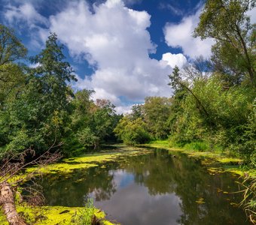
<path id="1" fill-rule="evenodd" d="M 82 206 L 93 197 L 108 219 L 121 224 L 249 224 L 233 205 L 241 200 L 233 193 L 236 178 L 209 175 L 198 161 L 172 154 L 154 150 L 40 182 L 48 205 Z"/>

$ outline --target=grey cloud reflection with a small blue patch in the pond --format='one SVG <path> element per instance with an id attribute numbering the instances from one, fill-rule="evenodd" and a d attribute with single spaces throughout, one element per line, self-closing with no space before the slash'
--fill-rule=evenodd
<path id="1" fill-rule="evenodd" d="M 114 172 L 117 192 L 111 199 L 95 202 L 109 219 L 121 224 L 176 224 L 182 212 L 181 199 L 174 193 L 151 196 L 148 188 L 134 183 L 133 175 L 121 169 Z"/>

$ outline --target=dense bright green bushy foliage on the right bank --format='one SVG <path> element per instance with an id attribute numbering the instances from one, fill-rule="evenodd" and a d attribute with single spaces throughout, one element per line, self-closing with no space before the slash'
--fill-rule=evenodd
<path id="1" fill-rule="evenodd" d="M 222 80 L 215 75 L 208 80 L 195 80 L 193 85 L 179 102 L 181 110 L 172 118 L 172 141 L 184 145 L 205 140 L 210 145 L 223 145 L 250 157 L 255 144 L 254 90 L 244 86 L 225 89 Z M 202 106 L 207 114 L 201 110 Z"/>

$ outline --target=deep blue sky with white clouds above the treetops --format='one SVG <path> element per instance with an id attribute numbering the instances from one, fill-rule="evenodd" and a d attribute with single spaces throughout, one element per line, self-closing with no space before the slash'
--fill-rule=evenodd
<path id="1" fill-rule="evenodd" d="M 78 82 L 126 113 L 147 96 L 171 97 L 168 75 L 200 55 L 214 40 L 192 37 L 199 0 L 0 0 L 0 23 L 36 55 L 50 31 L 64 45 Z M 251 13 L 253 20 L 256 13 Z"/>

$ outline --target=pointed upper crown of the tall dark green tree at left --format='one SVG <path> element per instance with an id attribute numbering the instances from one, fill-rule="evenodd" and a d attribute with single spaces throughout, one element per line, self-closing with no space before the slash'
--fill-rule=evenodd
<path id="1" fill-rule="evenodd" d="M 50 34 L 46 40 L 45 49 L 32 58 L 38 65 L 32 70 L 32 83 L 39 88 L 44 101 L 44 110 L 53 113 L 58 110 L 67 110 L 69 98 L 73 96 L 68 82 L 77 80 L 69 62 L 64 61 L 63 46 L 59 45 L 56 34 Z"/>

